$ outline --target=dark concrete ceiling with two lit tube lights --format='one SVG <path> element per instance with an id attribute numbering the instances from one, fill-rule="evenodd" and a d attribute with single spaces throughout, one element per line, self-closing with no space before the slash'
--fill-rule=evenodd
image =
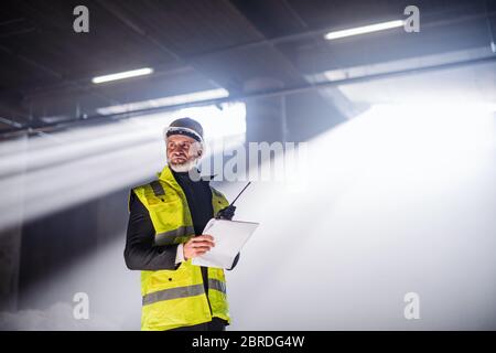
<path id="1" fill-rule="evenodd" d="M 72 30 L 73 9 L 78 4 L 89 9 L 86 34 Z M 402 18 L 408 4 L 386 0 L 353 4 L 344 0 L 3 1 L 0 117 L 7 120 L 0 129 L 15 128 L 6 121 L 25 127 L 43 125 L 46 116 L 77 120 L 80 115 L 94 116 L 101 106 L 216 87 L 241 97 L 257 89 L 305 87 L 326 71 L 487 50 L 494 39 L 496 3 L 485 0 L 417 1 L 420 33 L 391 30 L 336 42 L 322 38 L 326 29 Z M 96 75 L 143 66 L 153 67 L 155 74 L 103 86 L 90 83 Z M 493 68 L 479 66 L 477 74 L 489 77 L 479 71 Z M 269 84 L 252 84 L 261 78 Z"/>

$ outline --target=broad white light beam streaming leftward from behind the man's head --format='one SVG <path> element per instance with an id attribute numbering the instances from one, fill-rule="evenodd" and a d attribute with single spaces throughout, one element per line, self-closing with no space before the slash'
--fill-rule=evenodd
<path id="1" fill-rule="evenodd" d="M 203 125 L 205 158 L 216 139 L 233 148 L 244 142 L 245 104 L 231 103 L 0 143 L 0 232 L 153 178 L 166 161 L 163 128 L 185 116 Z"/>

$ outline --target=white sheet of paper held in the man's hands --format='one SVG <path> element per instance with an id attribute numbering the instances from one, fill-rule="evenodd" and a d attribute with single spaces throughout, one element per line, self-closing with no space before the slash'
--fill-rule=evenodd
<path id="1" fill-rule="evenodd" d="M 208 221 L 203 234 L 214 237 L 215 246 L 202 256 L 192 259 L 193 265 L 230 268 L 236 255 L 248 242 L 259 223 L 215 220 Z"/>

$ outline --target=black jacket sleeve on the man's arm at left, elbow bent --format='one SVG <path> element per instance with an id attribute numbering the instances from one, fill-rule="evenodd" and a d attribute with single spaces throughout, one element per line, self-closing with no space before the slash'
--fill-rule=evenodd
<path id="1" fill-rule="evenodd" d="M 131 191 L 129 199 L 129 223 L 126 236 L 125 260 L 131 270 L 176 269 L 177 245 L 155 246 L 155 231 L 150 214 Z"/>

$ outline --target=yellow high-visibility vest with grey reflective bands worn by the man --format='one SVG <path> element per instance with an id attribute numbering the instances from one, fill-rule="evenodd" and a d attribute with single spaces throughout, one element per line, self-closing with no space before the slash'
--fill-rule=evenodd
<path id="1" fill-rule="evenodd" d="M 186 196 L 169 167 L 159 180 L 132 192 L 150 213 L 155 244 L 185 243 L 195 235 Z M 214 214 L 226 206 L 226 197 L 212 188 Z M 224 270 L 208 267 L 208 293 L 202 270 L 191 259 L 175 270 L 141 271 L 141 330 L 170 330 L 208 322 L 213 317 L 230 322 Z M 208 296 L 208 301 L 207 301 Z M 212 309 L 212 310 L 211 310 Z"/>

